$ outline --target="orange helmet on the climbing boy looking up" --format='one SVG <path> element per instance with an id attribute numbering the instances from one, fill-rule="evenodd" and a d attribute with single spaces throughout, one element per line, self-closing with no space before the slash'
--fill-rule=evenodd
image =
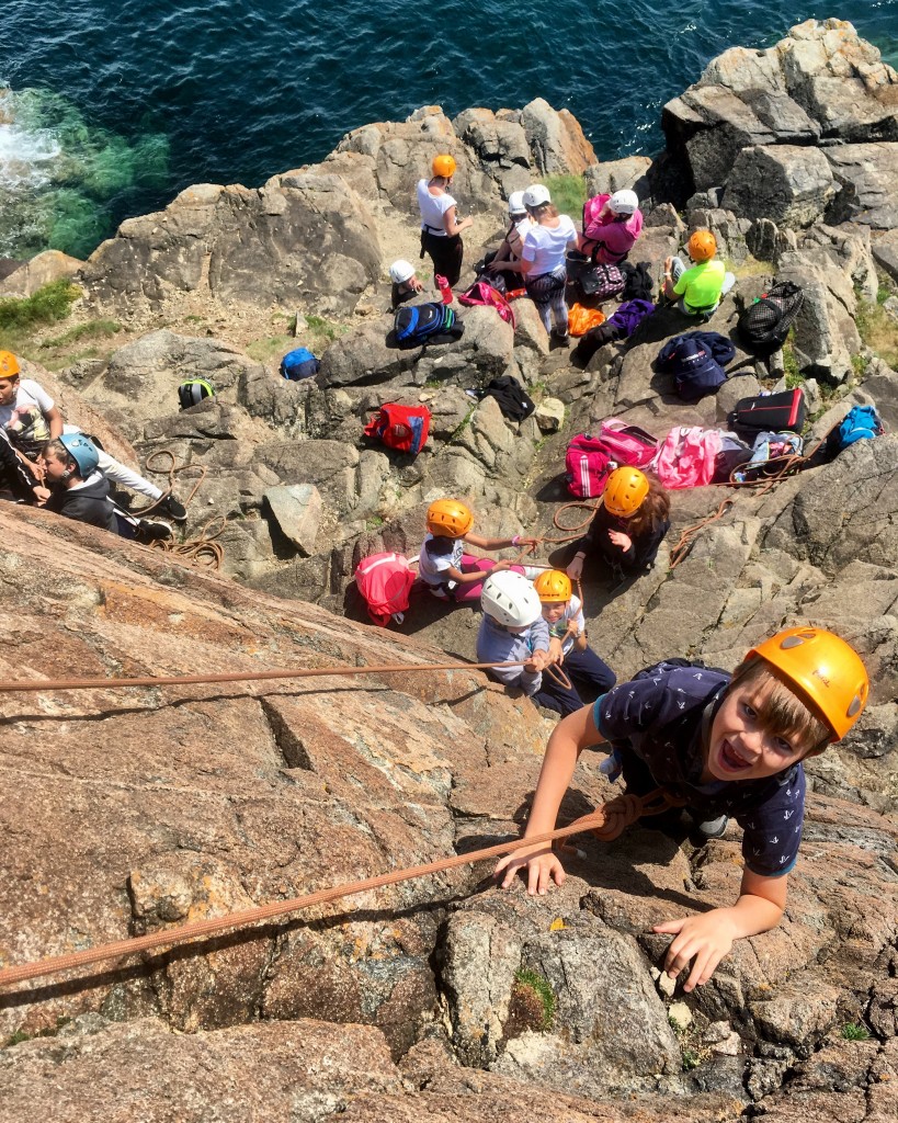
<path id="1" fill-rule="evenodd" d="M 834 741 L 842 740 L 867 705 L 870 678 L 861 657 L 823 628 L 789 628 L 745 658 L 763 659 L 797 686 L 832 729 Z"/>

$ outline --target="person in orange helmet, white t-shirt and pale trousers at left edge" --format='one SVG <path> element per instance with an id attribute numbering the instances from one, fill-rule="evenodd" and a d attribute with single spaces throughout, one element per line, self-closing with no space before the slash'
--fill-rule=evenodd
<path id="1" fill-rule="evenodd" d="M 19 364 L 10 351 L 0 351 L 0 427 L 4 429 L 12 447 L 25 457 L 25 467 L 35 476 L 36 484 L 40 483 L 39 474 L 31 465 L 47 441 L 55 440 L 63 432 L 81 432 L 76 426 L 63 424 L 62 413 L 39 383 L 33 378 L 19 377 Z M 102 448 L 95 445 L 94 448 L 99 455 L 100 471 L 109 480 L 153 500 L 161 514 L 166 514 L 176 522 L 186 520 L 187 512 L 174 495 L 166 495 L 158 503 L 163 495 L 161 489 L 131 472 Z"/>

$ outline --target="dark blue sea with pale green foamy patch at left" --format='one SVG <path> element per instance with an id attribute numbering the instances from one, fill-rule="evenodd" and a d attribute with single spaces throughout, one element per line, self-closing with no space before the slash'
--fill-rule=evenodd
<path id="1" fill-rule="evenodd" d="M 709 58 L 828 16 L 898 65 L 898 0 L 4 0 L 0 256 L 84 256 L 190 183 L 257 185 L 422 104 L 541 95 L 601 158 L 651 155 Z"/>

